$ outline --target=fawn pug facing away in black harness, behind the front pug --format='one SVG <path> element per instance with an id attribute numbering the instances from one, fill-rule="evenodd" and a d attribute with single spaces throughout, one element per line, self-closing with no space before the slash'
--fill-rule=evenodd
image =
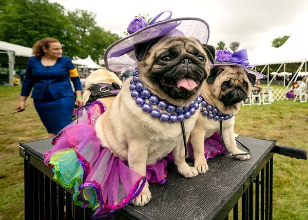
<path id="1" fill-rule="evenodd" d="M 105 69 L 95 70 L 93 73 L 91 73 L 86 78 L 85 92 L 82 95 L 83 103 L 87 103 L 88 100 L 89 100 L 89 97 L 91 95 L 91 91 L 88 90 L 88 89 L 92 85 L 100 84 L 100 83 L 110 84 L 110 85 L 112 85 L 112 83 L 116 83 L 119 86 L 122 85 L 122 81 L 114 73 L 112 73 L 108 70 L 105 70 Z M 105 90 L 103 90 L 103 91 L 105 91 Z M 113 102 L 114 98 L 115 98 L 115 95 L 111 95 L 111 96 L 106 96 L 106 97 L 103 97 L 103 98 L 98 98 L 96 100 L 103 102 L 108 108 L 111 105 L 111 103 Z"/>

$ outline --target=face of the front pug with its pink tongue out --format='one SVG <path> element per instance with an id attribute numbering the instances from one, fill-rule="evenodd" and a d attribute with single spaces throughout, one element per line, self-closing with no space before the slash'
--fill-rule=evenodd
<path id="1" fill-rule="evenodd" d="M 197 94 L 215 49 L 195 38 L 165 36 L 135 48 L 139 78 L 160 97 L 181 104 Z M 190 101 L 190 100 L 189 100 Z M 179 103 L 180 102 L 180 103 Z"/>

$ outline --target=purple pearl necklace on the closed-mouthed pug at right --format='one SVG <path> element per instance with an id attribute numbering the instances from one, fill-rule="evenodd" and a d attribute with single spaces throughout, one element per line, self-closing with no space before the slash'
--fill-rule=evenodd
<path id="1" fill-rule="evenodd" d="M 218 110 L 217 107 L 209 104 L 205 99 L 201 96 L 201 108 L 200 111 L 202 115 L 207 116 L 208 119 L 213 119 L 214 121 L 224 121 L 232 118 L 234 115 L 232 114 L 224 114 Z"/>

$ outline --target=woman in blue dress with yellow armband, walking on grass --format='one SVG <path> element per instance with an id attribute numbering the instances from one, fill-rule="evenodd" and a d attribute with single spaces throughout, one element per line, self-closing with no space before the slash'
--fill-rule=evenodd
<path id="1" fill-rule="evenodd" d="M 34 56 L 27 62 L 16 112 L 25 110 L 26 100 L 33 88 L 31 98 L 36 112 L 47 129 L 48 137 L 54 137 L 72 122 L 75 101 L 77 106 L 83 104 L 79 74 L 71 59 L 62 56 L 62 46 L 58 40 L 46 37 L 38 40 L 32 49 Z"/>

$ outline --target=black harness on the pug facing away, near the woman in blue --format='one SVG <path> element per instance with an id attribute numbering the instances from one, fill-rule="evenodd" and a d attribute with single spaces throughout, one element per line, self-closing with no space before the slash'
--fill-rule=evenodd
<path id="1" fill-rule="evenodd" d="M 91 85 L 87 90 L 91 92 L 87 103 L 91 103 L 99 98 L 118 95 L 121 85 L 115 82 L 112 82 L 112 84 L 98 83 Z"/>

